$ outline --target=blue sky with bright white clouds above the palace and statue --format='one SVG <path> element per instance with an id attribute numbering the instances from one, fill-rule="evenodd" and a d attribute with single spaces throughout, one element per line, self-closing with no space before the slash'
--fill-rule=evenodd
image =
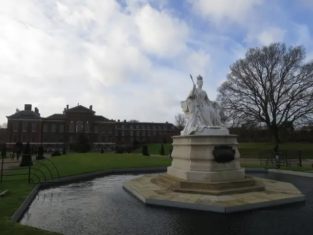
<path id="1" fill-rule="evenodd" d="M 0 123 L 93 105 L 109 119 L 174 122 L 201 74 L 210 100 L 249 47 L 304 45 L 313 0 L 2 0 Z"/>

